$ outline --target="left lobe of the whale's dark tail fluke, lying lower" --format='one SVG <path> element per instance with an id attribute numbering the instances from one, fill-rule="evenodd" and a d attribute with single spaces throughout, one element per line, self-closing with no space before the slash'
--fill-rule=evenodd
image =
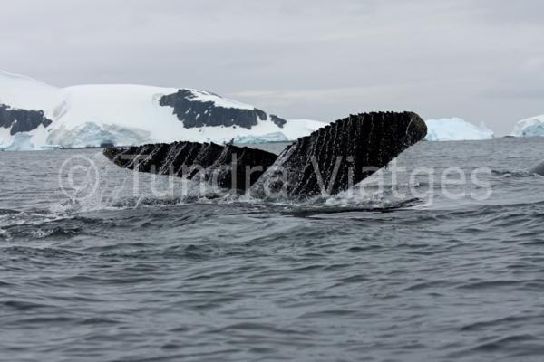
<path id="1" fill-rule="evenodd" d="M 260 149 L 196 142 L 106 148 L 103 153 L 120 167 L 189 179 L 199 177 L 215 186 L 238 190 L 253 185 L 277 157 Z"/>

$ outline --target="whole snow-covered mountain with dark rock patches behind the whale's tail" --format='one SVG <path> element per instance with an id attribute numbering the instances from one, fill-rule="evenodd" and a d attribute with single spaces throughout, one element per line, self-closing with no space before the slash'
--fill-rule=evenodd
<path id="1" fill-rule="evenodd" d="M 233 138 L 296 139 L 325 126 L 286 120 L 205 90 L 142 85 L 56 88 L 0 71 L 0 148 L 84 148 Z"/>

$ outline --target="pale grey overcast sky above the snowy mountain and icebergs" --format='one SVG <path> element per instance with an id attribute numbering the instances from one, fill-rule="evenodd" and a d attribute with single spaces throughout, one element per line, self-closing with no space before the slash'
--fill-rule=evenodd
<path id="1" fill-rule="evenodd" d="M 285 118 L 544 113 L 540 0 L 5 0 L 0 69 L 211 90 Z"/>

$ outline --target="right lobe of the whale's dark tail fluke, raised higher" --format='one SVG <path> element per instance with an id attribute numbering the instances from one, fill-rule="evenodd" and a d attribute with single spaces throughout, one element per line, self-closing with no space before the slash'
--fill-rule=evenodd
<path id="1" fill-rule="evenodd" d="M 352 115 L 298 138 L 252 191 L 290 197 L 335 195 L 386 166 L 426 134 L 425 122 L 413 112 Z"/>

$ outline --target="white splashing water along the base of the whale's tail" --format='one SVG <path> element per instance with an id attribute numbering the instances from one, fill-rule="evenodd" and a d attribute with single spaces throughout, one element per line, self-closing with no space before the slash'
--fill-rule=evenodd
<path id="1" fill-rule="evenodd" d="M 125 170 L 123 170 L 125 171 Z M 126 171 L 125 171 L 126 172 Z M 132 174 L 132 172 L 131 172 Z M 131 178 L 133 176 L 131 175 Z M 99 186 L 95 192 L 84 197 L 66 198 L 49 207 L 52 214 L 77 214 L 101 210 L 122 210 L 140 207 L 172 206 L 187 204 L 263 204 L 263 205 L 311 205 L 312 207 L 387 209 L 395 208 L 399 203 L 413 203 L 413 198 L 398 199 L 390 190 L 384 192 L 380 187 L 354 187 L 344 193 L 323 197 L 312 196 L 293 201 L 286 198 L 258 197 L 249 194 L 236 194 L 231 190 L 218 189 L 204 182 L 183 178 L 172 180 L 166 176 L 138 174 L 134 181 L 121 178 L 116 186 Z M 155 178 L 151 180 L 151 178 Z M 134 188 L 134 184 L 138 188 Z M 167 185 L 169 184 L 170 185 Z M 406 186 L 407 188 L 408 186 Z M 136 192 L 134 191 L 136 190 Z M 166 192 L 157 190 L 168 190 Z M 370 190 L 370 191 L 369 191 Z M 85 194 L 83 192 L 83 194 Z M 134 195 L 136 194 L 136 195 Z"/>

